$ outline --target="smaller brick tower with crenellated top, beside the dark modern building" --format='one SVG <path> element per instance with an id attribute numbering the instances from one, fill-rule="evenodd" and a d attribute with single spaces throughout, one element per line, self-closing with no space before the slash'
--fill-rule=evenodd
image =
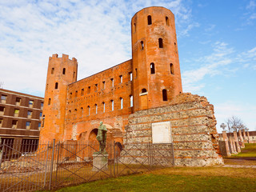
<path id="1" fill-rule="evenodd" d="M 42 110 L 40 140 L 62 140 L 64 134 L 67 85 L 77 81 L 78 62 L 76 58 L 53 54 L 49 58 L 46 92 Z"/>

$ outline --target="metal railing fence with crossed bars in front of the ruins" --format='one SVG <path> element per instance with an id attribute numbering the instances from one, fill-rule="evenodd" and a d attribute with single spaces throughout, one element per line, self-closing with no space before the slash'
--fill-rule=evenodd
<path id="1" fill-rule="evenodd" d="M 0 191 L 52 190 L 103 178 L 174 166 L 172 144 L 98 142 L 14 142 L 0 146 Z M 98 165 L 97 159 L 105 158 Z"/>

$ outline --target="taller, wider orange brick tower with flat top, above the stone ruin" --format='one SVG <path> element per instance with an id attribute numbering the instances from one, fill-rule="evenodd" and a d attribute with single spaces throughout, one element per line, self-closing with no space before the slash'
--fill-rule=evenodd
<path id="1" fill-rule="evenodd" d="M 152 6 L 131 20 L 134 111 L 166 106 L 182 92 L 174 14 Z"/>

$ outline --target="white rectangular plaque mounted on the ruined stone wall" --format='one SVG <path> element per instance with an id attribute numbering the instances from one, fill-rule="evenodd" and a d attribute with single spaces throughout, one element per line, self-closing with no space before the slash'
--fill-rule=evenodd
<path id="1" fill-rule="evenodd" d="M 152 123 L 152 140 L 153 143 L 171 143 L 170 122 Z"/>

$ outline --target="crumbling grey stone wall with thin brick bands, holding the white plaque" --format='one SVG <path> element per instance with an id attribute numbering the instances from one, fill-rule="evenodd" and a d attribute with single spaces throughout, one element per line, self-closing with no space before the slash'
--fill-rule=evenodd
<path id="1" fill-rule="evenodd" d="M 124 146 L 152 142 L 151 123 L 167 121 L 172 131 L 175 166 L 223 164 L 214 106 L 205 97 L 193 94 L 179 94 L 168 106 L 130 114 Z"/>

